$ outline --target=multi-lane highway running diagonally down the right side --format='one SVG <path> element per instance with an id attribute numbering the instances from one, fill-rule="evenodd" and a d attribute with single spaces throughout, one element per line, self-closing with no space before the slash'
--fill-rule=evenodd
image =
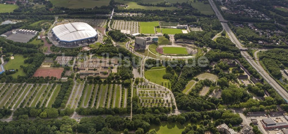
<path id="1" fill-rule="evenodd" d="M 218 10 L 217 6 L 212 0 L 209 0 L 209 3 L 213 10 L 215 11 L 218 19 L 221 21 L 225 21 L 223 16 L 221 15 L 221 12 Z M 221 22 L 221 25 L 223 26 L 224 30 L 228 33 L 228 36 L 230 40 L 236 44 L 238 48 L 242 48 L 241 43 L 239 40 L 236 38 L 232 30 L 229 28 L 228 24 L 226 22 Z M 249 62 L 249 64 L 258 71 L 258 73 L 267 81 L 272 88 L 274 88 L 278 94 L 287 102 L 288 100 L 288 94 L 284 88 L 282 88 L 265 70 L 264 68 L 260 65 L 255 63 L 253 59 L 250 59 L 250 55 L 246 51 L 241 51 L 241 55 L 245 57 L 245 59 Z"/>

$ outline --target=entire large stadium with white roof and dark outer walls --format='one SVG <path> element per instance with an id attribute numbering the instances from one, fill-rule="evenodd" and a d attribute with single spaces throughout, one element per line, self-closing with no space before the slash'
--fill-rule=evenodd
<path id="1" fill-rule="evenodd" d="M 55 26 L 52 28 L 52 35 L 62 45 L 92 43 L 98 37 L 96 30 L 84 22 L 73 22 Z"/>

